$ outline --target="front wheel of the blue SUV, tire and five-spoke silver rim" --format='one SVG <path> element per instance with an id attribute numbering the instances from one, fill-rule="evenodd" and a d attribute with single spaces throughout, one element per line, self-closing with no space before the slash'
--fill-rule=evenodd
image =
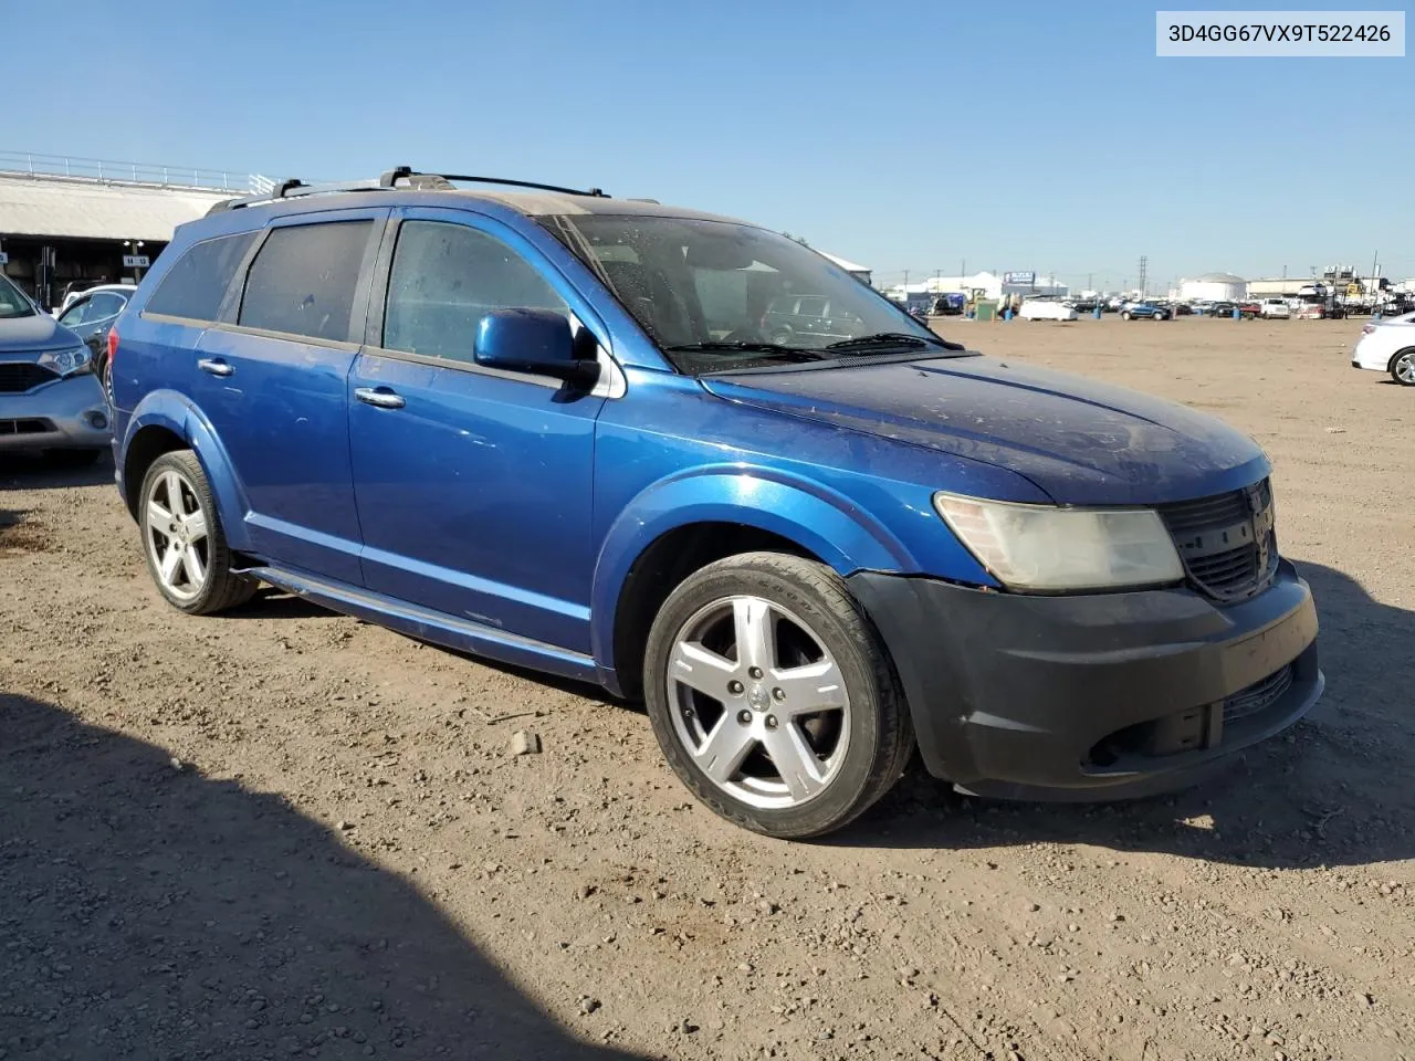
<path id="1" fill-rule="evenodd" d="M 743 553 L 693 573 L 654 620 L 644 663 L 674 772 L 753 832 L 842 828 L 894 785 L 914 748 L 879 634 L 812 560 Z"/>

